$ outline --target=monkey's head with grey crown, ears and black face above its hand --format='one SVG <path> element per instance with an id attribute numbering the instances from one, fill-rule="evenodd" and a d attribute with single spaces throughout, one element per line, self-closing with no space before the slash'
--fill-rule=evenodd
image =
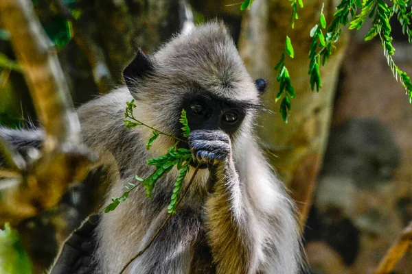
<path id="1" fill-rule="evenodd" d="M 249 134 L 264 79 L 255 82 L 222 23 L 180 34 L 146 57 L 139 50 L 124 69 L 139 120 L 181 136 L 184 108 L 190 129 L 221 129 L 236 140 Z"/>

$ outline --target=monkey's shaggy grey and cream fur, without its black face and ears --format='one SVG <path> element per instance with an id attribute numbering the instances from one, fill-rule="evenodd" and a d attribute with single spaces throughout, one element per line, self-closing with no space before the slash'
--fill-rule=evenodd
<path id="1" fill-rule="evenodd" d="M 205 90 L 222 98 L 260 103 L 258 90 L 220 23 L 176 36 L 150 60 L 153 73 L 136 79 L 135 86 L 129 88 L 136 99 L 135 116 L 164 132 L 179 133 L 174 121 L 179 119 L 181 98 L 187 92 Z M 122 195 L 124 185 L 133 182 L 135 174 L 150 175 L 146 159 L 165 153 L 173 144 L 162 137 L 146 151 L 150 130 L 129 130 L 122 124 L 125 103 L 130 99 L 128 90 L 120 88 L 79 110 L 87 145 L 119 171 L 107 203 L 110 197 Z M 216 137 L 218 142 L 230 144 L 231 151 L 223 156 L 225 164 L 220 166 L 213 194 L 206 187 L 209 171 L 203 170 L 178 214 L 152 247 L 128 267 L 128 273 L 196 272 L 191 262 L 203 255 L 194 254 L 194 247 L 205 234 L 217 273 L 299 271 L 301 247 L 293 203 L 256 145 L 254 116 L 253 110 L 247 113 L 231 142 Z M 199 137 L 196 132 L 191 137 L 192 147 L 196 147 Z M 96 256 L 102 272 L 116 273 L 150 240 L 166 218 L 175 175 L 172 172 L 157 183 L 152 199 L 139 189 L 115 212 L 102 216 Z"/>

